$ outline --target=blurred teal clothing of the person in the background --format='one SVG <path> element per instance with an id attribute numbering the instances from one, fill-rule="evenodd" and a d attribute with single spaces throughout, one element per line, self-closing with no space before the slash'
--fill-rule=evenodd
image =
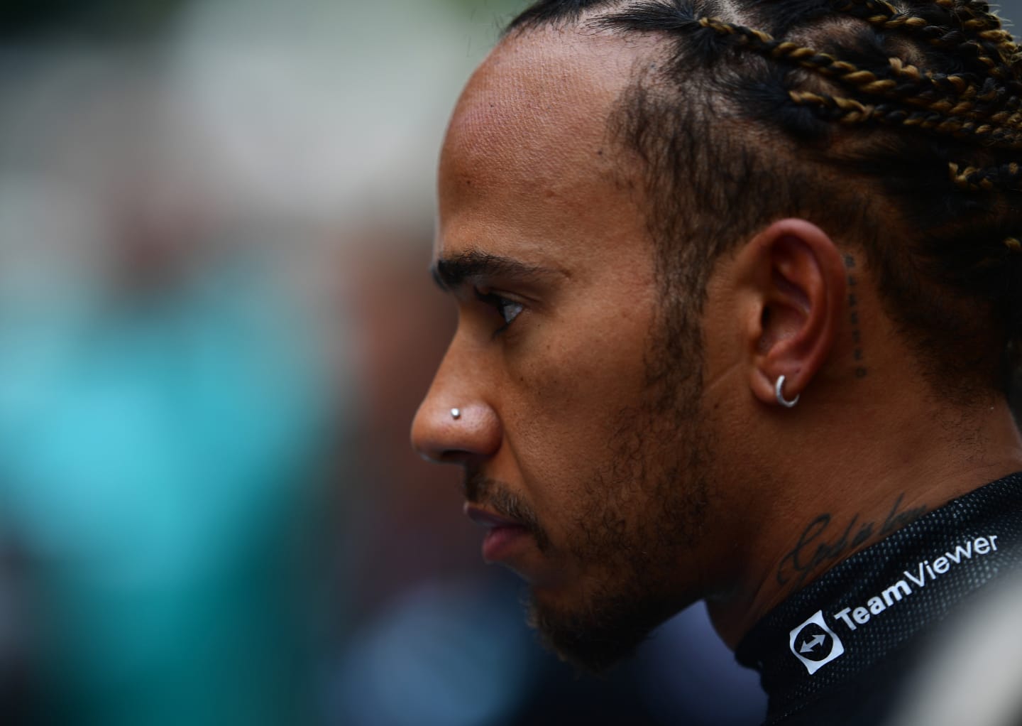
<path id="1" fill-rule="evenodd" d="M 327 384 L 262 266 L 0 330 L 41 722 L 309 720 Z"/>

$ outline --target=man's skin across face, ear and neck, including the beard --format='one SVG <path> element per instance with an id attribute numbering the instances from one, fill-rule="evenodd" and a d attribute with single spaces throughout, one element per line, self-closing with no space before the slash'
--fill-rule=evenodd
<path id="1" fill-rule="evenodd" d="M 884 529 L 842 543 L 848 520 L 1022 468 L 1004 401 L 935 397 L 862 256 L 810 221 L 766 224 L 716 261 L 698 329 L 670 328 L 692 355 L 663 365 L 640 169 L 608 132 L 652 43 L 530 31 L 469 82 L 434 252 L 459 325 L 412 433 L 465 468 L 475 511 L 524 528 L 501 563 L 528 583 L 551 645 L 597 670 L 700 598 L 734 645 Z M 781 374 L 794 409 L 775 399 Z M 806 542 L 822 514 L 830 529 Z"/>

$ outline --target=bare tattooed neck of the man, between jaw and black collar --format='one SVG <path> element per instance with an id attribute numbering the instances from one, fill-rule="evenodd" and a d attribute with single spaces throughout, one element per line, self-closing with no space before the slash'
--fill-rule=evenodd
<path id="1" fill-rule="evenodd" d="M 883 416 L 868 410 L 855 416 L 843 405 L 840 415 L 807 406 L 799 421 L 780 419 L 785 430 L 777 440 L 786 442 L 785 455 L 764 466 L 755 502 L 745 507 L 743 526 L 754 536 L 733 558 L 728 581 L 707 598 L 730 646 L 848 555 L 1022 470 L 1022 440 L 1003 398 L 968 410 L 941 407 L 932 396 L 907 400 L 919 403 L 899 403 Z M 811 456 L 798 453 L 808 451 Z"/>

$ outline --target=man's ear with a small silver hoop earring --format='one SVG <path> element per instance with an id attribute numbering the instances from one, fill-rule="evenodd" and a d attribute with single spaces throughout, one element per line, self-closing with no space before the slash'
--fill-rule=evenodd
<path id="1" fill-rule="evenodd" d="M 805 391 L 834 348 L 844 318 L 846 273 L 837 246 L 822 229 L 800 219 L 775 222 L 736 260 L 750 300 L 746 339 L 749 385 L 769 405 Z"/>

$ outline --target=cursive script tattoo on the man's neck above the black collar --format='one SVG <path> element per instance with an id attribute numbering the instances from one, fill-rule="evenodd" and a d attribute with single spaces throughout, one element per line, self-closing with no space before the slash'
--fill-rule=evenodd
<path id="1" fill-rule="evenodd" d="M 791 584 L 798 588 L 821 564 L 834 562 L 845 553 L 854 550 L 866 543 L 874 535 L 883 537 L 905 525 L 918 519 L 925 511 L 925 506 L 898 511 L 904 494 L 899 494 L 887 518 L 879 527 L 876 521 L 860 523 L 855 514 L 847 526 L 837 534 L 837 528 L 831 528 L 831 515 L 821 514 L 809 523 L 798 538 L 795 548 L 784 556 L 777 568 L 779 585 Z"/>

